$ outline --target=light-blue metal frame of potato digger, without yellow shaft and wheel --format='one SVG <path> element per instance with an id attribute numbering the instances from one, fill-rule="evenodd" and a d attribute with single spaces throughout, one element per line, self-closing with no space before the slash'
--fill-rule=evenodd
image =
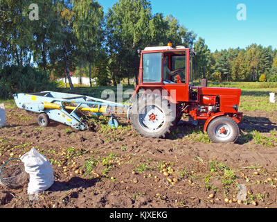
<path id="1" fill-rule="evenodd" d="M 111 119 L 109 120 L 109 125 L 112 128 L 118 127 L 118 122 L 114 119 L 114 113 L 112 112 L 113 108 L 128 108 L 129 105 L 123 105 L 120 103 L 114 103 L 107 100 L 93 98 L 91 96 L 83 96 L 78 94 L 66 94 L 61 92 L 39 92 L 33 94 L 19 93 L 13 95 L 15 103 L 18 108 L 24 109 L 29 112 L 35 113 L 46 113 L 49 119 L 54 121 L 64 123 L 68 126 L 71 126 L 77 130 L 86 130 L 88 126 L 86 123 L 83 123 L 76 114 L 76 111 L 80 108 L 96 108 L 98 112 L 92 112 L 98 116 L 103 113 L 100 112 L 101 108 L 109 108 L 111 111 Z M 45 108 L 44 103 L 55 104 L 59 107 L 57 108 Z M 71 103 L 75 105 L 75 108 L 72 112 L 67 112 L 63 103 Z M 127 115 L 129 116 L 129 115 Z M 127 117 L 129 119 L 129 117 Z"/>

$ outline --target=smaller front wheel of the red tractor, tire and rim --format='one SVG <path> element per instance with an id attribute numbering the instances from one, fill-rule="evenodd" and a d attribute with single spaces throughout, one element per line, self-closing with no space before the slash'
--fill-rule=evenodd
<path id="1" fill-rule="evenodd" d="M 208 125 L 208 137 L 214 143 L 235 142 L 240 135 L 238 124 L 231 117 L 217 117 Z"/>

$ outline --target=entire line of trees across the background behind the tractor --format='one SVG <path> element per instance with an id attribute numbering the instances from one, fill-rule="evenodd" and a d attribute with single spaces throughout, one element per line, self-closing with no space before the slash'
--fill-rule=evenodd
<path id="1" fill-rule="evenodd" d="M 195 78 L 205 67 L 210 80 L 277 80 L 276 49 L 252 44 L 247 49 L 211 53 L 205 40 L 172 15 L 154 14 L 150 1 L 118 0 L 107 13 L 96 0 L 36 0 L 38 19 L 29 18 L 30 0 L 0 0 L 0 68 L 33 67 L 45 76 L 96 78 L 114 85 L 137 78 L 138 49 L 146 46 L 194 47 Z M 5 69 L 6 70 L 6 69 Z"/>

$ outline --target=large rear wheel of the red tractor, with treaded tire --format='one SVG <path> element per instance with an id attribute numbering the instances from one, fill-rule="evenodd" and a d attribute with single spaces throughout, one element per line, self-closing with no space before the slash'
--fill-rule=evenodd
<path id="1" fill-rule="evenodd" d="M 143 137 L 165 138 L 175 125 L 175 109 L 175 105 L 170 104 L 166 99 L 161 99 L 161 96 L 145 94 L 133 104 L 130 120 L 136 132 Z M 152 111 L 150 116 L 156 116 L 154 120 L 150 120 L 151 117 L 148 117 Z M 149 126 L 157 128 L 152 129 Z"/>

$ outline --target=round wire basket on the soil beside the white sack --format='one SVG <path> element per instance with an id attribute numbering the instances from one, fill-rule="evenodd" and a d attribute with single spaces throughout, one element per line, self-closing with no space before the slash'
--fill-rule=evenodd
<path id="1" fill-rule="evenodd" d="M 28 179 L 28 173 L 24 170 L 24 163 L 20 159 L 10 159 L 0 170 L 0 184 L 10 188 L 24 185 Z"/>

